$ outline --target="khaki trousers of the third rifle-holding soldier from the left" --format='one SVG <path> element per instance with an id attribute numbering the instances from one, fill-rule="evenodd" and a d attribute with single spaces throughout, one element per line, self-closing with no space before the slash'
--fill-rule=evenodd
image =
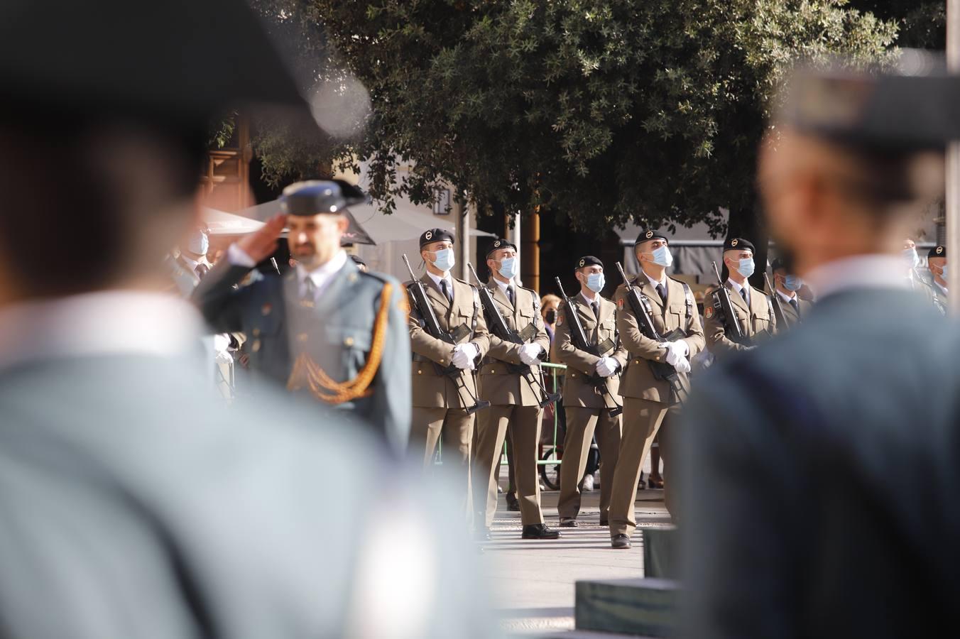
<path id="1" fill-rule="evenodd" d="M 580 512 L 580 485 L 587 469 L 590 440 L 596 433 L 600 447 L 600 519 L 608 519 L 614 468 L 620 452 L 620 416 L 611 416 L 610 409 L 567 406 L 564 461 L 560 464 L 560 502 L 557 512 L 562 518 L 576 518 Z"/>

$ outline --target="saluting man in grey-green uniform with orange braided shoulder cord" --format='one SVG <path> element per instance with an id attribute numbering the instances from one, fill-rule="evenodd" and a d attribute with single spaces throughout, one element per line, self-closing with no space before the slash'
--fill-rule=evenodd
<path id="1" fill-rule="evenodd" d="M 360 272 L 341 247 L 343 210 L 365 199 L 343 180 L 291 184 L 283 213 L 230 245 L 193 299 L 213 330 L 247 334 L 261 383 L 356 414 L 402 452 L 411 413 L 406 295 L 393 277 Z M 274 254 L 284 227 L 297 266 L 237 286 Z"/>

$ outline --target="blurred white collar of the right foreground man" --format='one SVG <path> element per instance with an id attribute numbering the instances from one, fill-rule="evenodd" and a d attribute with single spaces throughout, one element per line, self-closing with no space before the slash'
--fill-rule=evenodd
<path id="1" fill-rule="evenodd" d="M 823 264 L 804 280 L 821 299 L 850 289 L 909 289 L 908 271 L 900 255 L 854 255 Z"/>

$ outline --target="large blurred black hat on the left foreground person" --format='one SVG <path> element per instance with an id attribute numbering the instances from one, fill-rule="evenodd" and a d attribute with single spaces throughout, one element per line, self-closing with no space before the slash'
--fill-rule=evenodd
<path id="1" fill-rule="evenodd" d="M 0 24 L 0 109 L 23 117 L 192 129 L 228 106 L 308 113 L 242 0 L 4 0 Z"/>

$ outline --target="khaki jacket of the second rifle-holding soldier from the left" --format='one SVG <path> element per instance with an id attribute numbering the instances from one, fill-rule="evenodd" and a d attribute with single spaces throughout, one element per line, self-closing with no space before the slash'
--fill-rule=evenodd
<path id="1" fill-rule="evenodd" d="M 493 279 L 487 282 L 487 288 L 508 327 L 522 332 L 527 326 L 532 326 L 529 330 L 533 331 L 533 335 L 526 342 L 539 343 L 542 348 L 540 359 L 545 360 L 550 351 L 550 338 L 546 334 L 543 319 L 540 318 L 540 297 L 537 292 L 515 284 L 514 306 Z M 490 325 L 488 322 L 488 326 Z M 537 406 L 540 404 L 540 388 L 530 384 L 529 375 L 511 372 L 508 367 L 523 366 L 520 361 L 520 344 L 504 342 L 493 335 L 492 328 L 490 331 L 490 351 L 480 369 L 480 396 L 493 406 Z M 540 378 L 538 368 L 533 368 L 533 374 Z M 547 388 L 551 388 L 549 382 Z"/>

